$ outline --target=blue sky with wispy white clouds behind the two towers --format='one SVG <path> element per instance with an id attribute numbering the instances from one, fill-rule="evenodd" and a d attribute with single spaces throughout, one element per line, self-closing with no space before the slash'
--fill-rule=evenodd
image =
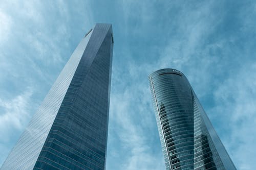
<path id="1" fill-rule="evenodd" d="M 147 76 L 188 78 L 238 169 L 254 169 L 255 1 L 1 1 L 0 166 L 75 47 L 112 23 L 106 169 L 165 169 Z"/>

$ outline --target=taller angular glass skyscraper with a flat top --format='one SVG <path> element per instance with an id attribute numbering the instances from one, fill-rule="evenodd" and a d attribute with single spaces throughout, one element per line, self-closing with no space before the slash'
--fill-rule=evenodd
<path id="1" fill-rule="evenodd" d="M 105 169 L 113 43 L 110 24 L 82 38 L 1 170 Z"/>

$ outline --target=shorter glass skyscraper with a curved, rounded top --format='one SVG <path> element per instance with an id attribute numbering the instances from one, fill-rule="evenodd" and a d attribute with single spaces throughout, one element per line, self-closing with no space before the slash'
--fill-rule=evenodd
<path id="1" fill-rule="evenodd" d="M 148 76 L 166 169 L 236 169 L 182 72 Z"/>

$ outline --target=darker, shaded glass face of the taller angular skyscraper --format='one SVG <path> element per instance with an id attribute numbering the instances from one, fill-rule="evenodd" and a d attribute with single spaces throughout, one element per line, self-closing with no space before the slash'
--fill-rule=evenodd
<path id="1" fill-rule="evenodd" d="M 34 169 L 104 169 L 113 42 L 96 25 Z M 48 162 L 46 160 L 49 160 Z"/>

